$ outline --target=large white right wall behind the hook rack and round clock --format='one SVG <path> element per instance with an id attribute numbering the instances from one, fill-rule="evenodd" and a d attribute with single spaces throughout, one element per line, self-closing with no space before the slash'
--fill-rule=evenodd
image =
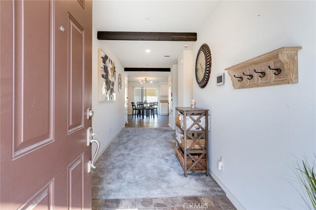
<path id="1" fill-rule="evenodd" d="M 203 43 L 212 54 L 208 85 L 200 89 L 193 78 L 197 107 L 211 114 L 210 169 L 246 209 L 303 209 L 288 179 L 292 154 L 316 152 L 315 7 L 315 1 L 221 1 L 197 31 L 194 56 Z M 303 48 L 298 84 L 234 90 L 225 72 L 225 85 L 216 86 L 225 68 L 283 46 Z"/>

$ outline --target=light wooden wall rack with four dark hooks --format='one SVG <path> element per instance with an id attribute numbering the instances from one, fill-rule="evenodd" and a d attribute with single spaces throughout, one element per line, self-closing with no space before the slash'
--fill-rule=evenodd
<path id="1" fill-rule="evenodd" d="M 281 47 L 226 68 L 234 89 L 298 83 L 297 51 Z"/>

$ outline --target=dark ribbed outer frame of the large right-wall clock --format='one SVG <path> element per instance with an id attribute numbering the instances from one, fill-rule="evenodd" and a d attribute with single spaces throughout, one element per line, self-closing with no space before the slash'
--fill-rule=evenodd
<path id="1" fill-rule="evenodd" d="M 200 53 L 203 53 L 205 56 L 205 72 L 203 75 L 203 78 L 201 81 L 197 80 L 197 59 Z M 212 70 L 212 56 L 211 56 L 211 51 L 208 47 L 207 44 L 202 44 L 199 50 L 197 51 L 197 59 L 196 59 L 196 80 L 197 84 L 200 88 L 205 88 L 207 85 L 210 75 L 211 75 L 211 70 Z"/>

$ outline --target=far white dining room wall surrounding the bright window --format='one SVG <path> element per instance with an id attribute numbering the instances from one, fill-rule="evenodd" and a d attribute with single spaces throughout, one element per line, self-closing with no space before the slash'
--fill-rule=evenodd
<path id="1" fill-rule="evenodd" d="M 160 83 L 159 82 L 153 82 L 152 85 L 150 84 L 140 84 L 139 82 L 128 82 L 128 115 L 132 114 L 132 104 L 131 102 L 134 102 L 134 87 L 152 87 L 157 88 L 157 100 L 165 99 L 164 96 L 160 96 Z M 162 97 L 162 98 L 161 98 Z M 168 99 L 168 96 L 166 96 L 166 100 Z M 160 114 L 160 103 L 158 103 L 158 115 Z"/>

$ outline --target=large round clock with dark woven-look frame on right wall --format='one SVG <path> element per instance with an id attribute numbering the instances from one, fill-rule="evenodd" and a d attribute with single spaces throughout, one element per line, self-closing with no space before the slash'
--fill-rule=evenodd
<path id="1" fill-rule="evenodd" d="M 200 88 L 205 88 L 211 75 L 212 57 L 207 44 L 202 44 L 197 52 L 196 79 Z"/>

